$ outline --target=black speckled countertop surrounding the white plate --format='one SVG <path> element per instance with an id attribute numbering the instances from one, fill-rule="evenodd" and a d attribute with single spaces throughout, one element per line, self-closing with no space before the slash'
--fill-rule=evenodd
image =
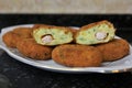
<path id="1" fill-rule="evenodd" d="M 103 19 L 114 24 L 117 35 L 132 43 L 131 14 L 0 14 L 0 29 L 32 23 L 81 26 Z M 10 88 L 132 88 L 131 73 L 64 74 L 47 72 L 18 62 L 3 51 L 0 51 L 0 74 L 9 78 Z"/>

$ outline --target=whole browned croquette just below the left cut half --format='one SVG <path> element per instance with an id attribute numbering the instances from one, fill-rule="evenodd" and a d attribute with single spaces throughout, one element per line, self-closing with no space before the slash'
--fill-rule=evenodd
<path id="1" fill-rule="evenodd" d="M 33 38 L 23 38 L 16 43 L 19 52 L 33 59 L 45 61 L 52 57 L 52 47 L 36 44 Z"/>

